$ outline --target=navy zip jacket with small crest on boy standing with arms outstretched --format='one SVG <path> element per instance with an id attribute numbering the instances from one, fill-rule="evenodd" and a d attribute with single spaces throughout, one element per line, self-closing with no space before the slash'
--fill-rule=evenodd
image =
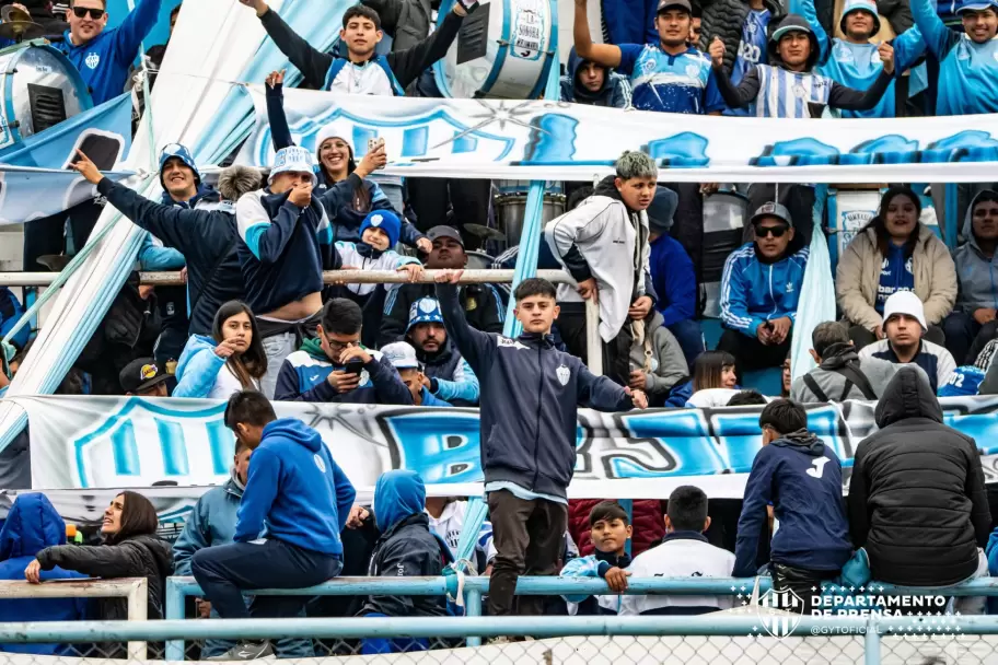
<path id="1" fill-rule="evenodd" d="M 565 497 L 576 467 L 579 404 L 624 411 L 634 407 L 631 398 L 579 358 L 555 349 L 549 335 L 509 339 L 475 330 L 464 318 L 457 287 L 437 284 L 437 298 L 448 336 L 481 386 L 485 482 Z"/>

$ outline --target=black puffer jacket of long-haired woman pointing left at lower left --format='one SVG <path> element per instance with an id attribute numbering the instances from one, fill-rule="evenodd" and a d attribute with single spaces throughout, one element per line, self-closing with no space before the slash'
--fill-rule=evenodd
<path id="1" fill-rule="evenodd" d="M 42 570 L 59 567 L 93 578 L 146 578 L 149 582 L 147 617 L 163 618 L 163 595 L 166 578 L 173 572 L 173 551 L 170 544 L 151 535 L 132 536 L 116 545 L 57 545 L 46 547 L 36 556 Z M 128 619 L 125 598 L 101 598 L 100 618 L 104 621 Z"/>

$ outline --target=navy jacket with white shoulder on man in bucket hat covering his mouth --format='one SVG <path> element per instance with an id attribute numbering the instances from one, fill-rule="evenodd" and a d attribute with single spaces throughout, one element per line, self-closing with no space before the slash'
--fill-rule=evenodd
<path id="1" fill-rule="evenodd" d="M 269 189 L 240 198 L 235 218 L 246 304 L 266 314 L 323 290 L 323 270 L 340 267 L 333 247 L 329 217 L 315 196 L 299 208 Z"/>

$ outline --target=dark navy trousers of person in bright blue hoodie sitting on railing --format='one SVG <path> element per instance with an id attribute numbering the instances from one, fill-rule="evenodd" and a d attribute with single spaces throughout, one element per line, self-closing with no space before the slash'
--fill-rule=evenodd
<path id="1" fill-rule="evenodd" d="M 208 547 L 190 559 L 194 579 L 223 619 L 297 617 L 305 605 L 304 597 L 256 596 L 246 607 L 243 592 L 315 586 L 340 570 L 343 562 L 333 555 L 275 539 Z"/>

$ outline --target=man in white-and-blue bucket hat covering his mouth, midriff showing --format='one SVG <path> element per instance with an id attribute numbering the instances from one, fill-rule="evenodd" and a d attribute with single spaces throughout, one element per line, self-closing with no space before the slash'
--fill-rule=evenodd
<path id="1" fill-rule="evenodd" d="M 267 187 L 235 205 L 245 300 L 267 340 L 267 373 L 260 384 L 268 396 L 285 359 L 315 332 L 323 270 L 341 265 L 329 215 L 312 192 L 315 183 L 312 153 L 292 145 L 275 155 Z"/>

